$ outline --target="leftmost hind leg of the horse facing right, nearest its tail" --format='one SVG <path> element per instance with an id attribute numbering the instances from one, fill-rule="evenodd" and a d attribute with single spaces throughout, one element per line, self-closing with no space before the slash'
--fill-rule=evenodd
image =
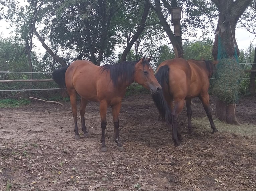
<path id="1" fill-rule="evenodd" d="M 78 126 L 77 126 L 77 92 L 75 89 L 68 89 L 68 93 L 70 95 L 70 102 L 71 102 L 71 107 L 72 107 L 72 114 L 74 118 L 74 123 L 75 123 L 75 139 L 80 139 L 79 132 L 78 132 Z"/>

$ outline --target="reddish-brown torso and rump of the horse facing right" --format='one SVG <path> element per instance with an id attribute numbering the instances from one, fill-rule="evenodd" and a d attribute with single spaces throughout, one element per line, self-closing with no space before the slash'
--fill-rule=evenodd
<path id="1" fill-rule="evenodd" d="M 99 102 L 105 99 L 109 104 L 121 101 L 125 94 L 125 89 L 118 91 L 113 87 L 109 72 L 87 60 L 74 61 L 70 65 L 66 72 L 66 86 L 68 91 L 75 89 L 87 100 Z"/>

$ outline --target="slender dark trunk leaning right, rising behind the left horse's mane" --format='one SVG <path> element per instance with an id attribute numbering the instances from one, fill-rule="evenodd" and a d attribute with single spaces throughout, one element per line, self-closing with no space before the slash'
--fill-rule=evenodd
<path id="1" fill-rule="evenodd" d="M 129 53 L 130 49 L 132 48 L 132 45 L 135 43 L 135 41 L 138 39 L 138 37 L 141 35 L 141 33 L 143 32 L 145 26 L 146 26 L 146 19 L 147 19 L 147 15 L 149 12 L 149 5 L 148 3 L 145 2 L 144 4 L 144 12 L 140 21 L 140 26 L 138 28 L 138 30 L 136 31 L 136 33 L 134 34 L 133 38 L 131 39 L 131 41 L 127 44 L 127 47 L 124 49 L 124 52 L 122 54 L 122 58 L 121 58 L 121 62 L 126 60 L 126 56 Z"/>

